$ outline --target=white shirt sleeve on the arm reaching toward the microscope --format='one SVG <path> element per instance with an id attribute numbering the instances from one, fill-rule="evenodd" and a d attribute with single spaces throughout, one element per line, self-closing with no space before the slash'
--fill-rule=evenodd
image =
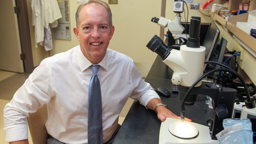
<path id="1" fill-rule="evenodd" d="M 153 87 L 142 79 L 141 72 L 137 69 L 135 64 L 131 62 L 131 65 L 131 81 L 133 85 L 131 98 L 139 100 L 140 104 L 147 108 L 147 104 L 151 99 L 160 99 L 160 97 Z"/>

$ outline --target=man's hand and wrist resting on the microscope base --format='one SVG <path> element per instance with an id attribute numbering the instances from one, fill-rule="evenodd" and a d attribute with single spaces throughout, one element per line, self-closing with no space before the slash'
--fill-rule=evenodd
<path id="1" fill-rule="evenodd" d="M 149 101 L 149 103 L 147 104 L 147 107 L 149 109 L 154 110 L 157 103 L 163 103 L 163 102 L 160 99 L 154 98 Z M 177 115 L 172 113 L 167 107 L 162 105 L 156 108 L 156 113 L 157 113 L 158 119 L 162 122 L 164 122 L 166 118 L 181 119 L 181 117 L 178 117 Z M 192 120 L 185 118 L 185 121 L 191 122 Z"/>

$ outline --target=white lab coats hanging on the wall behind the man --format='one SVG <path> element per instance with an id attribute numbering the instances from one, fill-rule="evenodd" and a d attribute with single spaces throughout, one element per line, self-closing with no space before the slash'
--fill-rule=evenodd
<path id="1" fill-rule="evenodd" d="M 62 14 L 57 0 L 30 0 L 32 7 L 32 24 L 35 26 L 35 39 L 44 46 L 45 50 L 52 49 L 52 38 L 49 24 L 58 25 L 57 20 Z"/>

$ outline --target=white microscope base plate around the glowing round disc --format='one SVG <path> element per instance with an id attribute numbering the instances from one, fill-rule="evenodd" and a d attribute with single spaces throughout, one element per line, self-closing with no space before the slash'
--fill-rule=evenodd
<path id="1" fill-rule="evenodd" d="M 208 126 L 186 122 L 193 125 L 198 130 L 198 135 L 195 138 L 184 139 L 173 136 L 169 131 L 171 123 L 181 123 L 181 120 L 167 118 L 165 122 L 161 123 L 159 132 L 159 144 L 219 144 L 217 140 L 212 140 Z M 181 129 L 184 132 L 188 129 Z"/>

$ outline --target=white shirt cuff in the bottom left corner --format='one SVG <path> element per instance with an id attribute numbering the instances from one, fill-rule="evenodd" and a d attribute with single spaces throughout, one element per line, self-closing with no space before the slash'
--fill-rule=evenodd
<path id="1" fill-rule="evenodd" d="M 27 124 L 15 124 L 8 128 L 5 128 L 4 130 L 6 142 L 14 142 L 28 139 Z"/>

